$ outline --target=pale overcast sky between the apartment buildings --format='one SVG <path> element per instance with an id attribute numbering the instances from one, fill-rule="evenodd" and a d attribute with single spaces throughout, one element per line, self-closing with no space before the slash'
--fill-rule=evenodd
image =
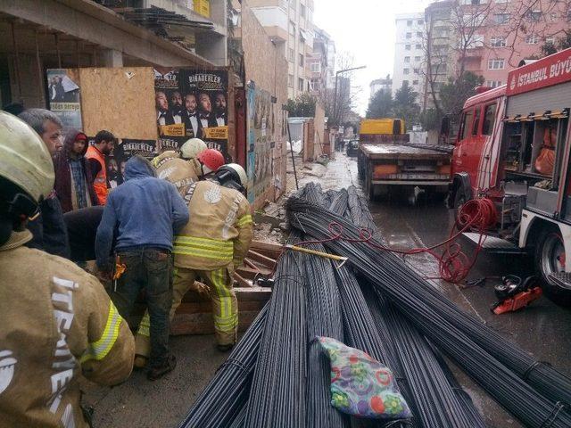
<path id="1" fill-rule="evenodd" d="M 434 0 L 315 0 L 313 21 L 335 40 L 337 53 L 349 52 L 355 71 L 353 86 L 360 86 L 357 111 L 367 110 L 369 83 L 393 74 L 394 15 L 422 12 Z"/>

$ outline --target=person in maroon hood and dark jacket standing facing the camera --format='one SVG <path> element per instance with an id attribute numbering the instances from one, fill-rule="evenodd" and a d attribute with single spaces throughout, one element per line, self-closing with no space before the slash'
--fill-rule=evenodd
<path id="1" fill-rule="evenodd" d="M 55 193 L 62 204 L 62 211 L 69 212 L 98 205 L 93 174 L 85 158 L 87 136 L 71 129 L 61 151 L 55 153 Z"/>

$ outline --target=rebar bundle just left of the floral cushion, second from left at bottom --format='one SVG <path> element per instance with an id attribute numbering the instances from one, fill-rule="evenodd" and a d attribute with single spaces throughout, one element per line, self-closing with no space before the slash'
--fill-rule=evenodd
<path id="1" fill-rule="evenodd" d="M 307 333 L 300 255 L 279 260 L 244 427 L 306 426 Z"/>

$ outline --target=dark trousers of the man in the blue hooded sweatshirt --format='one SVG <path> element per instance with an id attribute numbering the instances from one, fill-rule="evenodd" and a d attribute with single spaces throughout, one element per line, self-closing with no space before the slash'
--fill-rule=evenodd
<path id="1" fill-rule="evenodd" d="M 120 276 L 112 300 L 122 317 L 129 317 L 137 296 L 145 290 L 145 300 L 151 319 L 150 366 L 160 367 L 169 358 L 169 312 L 172 303 L 172 257 L 159 248 L 117 251 L 125 273 Z M 135 327 L 132 325 L 132 327 Z"/>

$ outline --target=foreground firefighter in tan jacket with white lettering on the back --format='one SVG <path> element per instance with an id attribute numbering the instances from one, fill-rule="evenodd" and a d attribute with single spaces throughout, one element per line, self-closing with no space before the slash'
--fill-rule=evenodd
<path id="1" fill-rule="evenodd" d="M 24 246 L 27 219 L 54 188 L 54 166 L 32 128 L 5 112 L 0 157 L 0 424 L 87 427 L 79 377 L 126 380 L 133 335 L 95 276 Z"/>

